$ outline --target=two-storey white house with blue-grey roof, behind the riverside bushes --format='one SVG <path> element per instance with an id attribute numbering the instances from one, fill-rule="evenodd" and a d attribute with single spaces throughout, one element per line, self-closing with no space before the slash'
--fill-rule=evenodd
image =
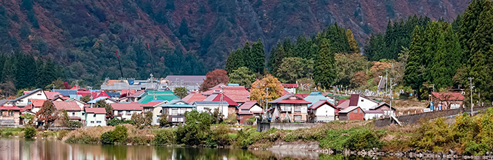
<path id="1" fill-rule="evenodd" d="M 185 112 L 192 111 L 195 106 L 188 104 L 181 99 L 173 99 L 166 104 L 161 104 L 162 115 L 167 115 L 168 122 L 172 122 L 174 125 L 185 123 Z"/>

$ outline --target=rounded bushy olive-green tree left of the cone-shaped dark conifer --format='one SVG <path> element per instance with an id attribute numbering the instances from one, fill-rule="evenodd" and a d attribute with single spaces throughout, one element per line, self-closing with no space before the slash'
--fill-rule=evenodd
<path id="1" fill-rule="evenodd" d="M 278 68 L 276 77 L 287 83 L 295 83 L 296 79 L 312 77 L 313 61 L 299 57 L 288 57 L 283 59 L 283 63 Z"/>

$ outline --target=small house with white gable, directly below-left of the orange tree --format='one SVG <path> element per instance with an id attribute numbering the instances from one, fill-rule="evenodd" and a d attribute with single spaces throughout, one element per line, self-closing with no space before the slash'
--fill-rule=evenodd
<path id="1" fill-rule="evenodd" d="M 263 108 L 256 101 L 247 101 L 238 107 L 238 112 L 236 113 L 237 122 L 240 124 L 245 124 L 245 120 L 253 117 L 262 116 Z"/>

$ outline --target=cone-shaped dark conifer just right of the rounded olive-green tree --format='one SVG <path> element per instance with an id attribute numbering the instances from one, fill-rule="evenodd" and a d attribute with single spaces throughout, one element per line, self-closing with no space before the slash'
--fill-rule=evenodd
<path id="1" fill-rule="evenodd" d="M 313 78 L 315 83 L 320 83 L 326 88 L 329 88 L 337 78 L 334 53 L 328 45 L 328 40 L 322 40 L 319 55 L 315 59 Z"/>

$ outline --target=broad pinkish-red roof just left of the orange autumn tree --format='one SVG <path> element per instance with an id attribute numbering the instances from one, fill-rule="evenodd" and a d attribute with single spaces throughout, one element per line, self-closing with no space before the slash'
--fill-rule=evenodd
<path id="1" fill-rule="evenodd" d="M 219 90 L 221 88 L 212 88 L 212 90 L 203 92 L 202 95 L 213 95 L 219 92 Z M 250 100 L 250 92 L 244 86 L 225 86 L 223 93 L 237 103 L 244 103 Z"/>

